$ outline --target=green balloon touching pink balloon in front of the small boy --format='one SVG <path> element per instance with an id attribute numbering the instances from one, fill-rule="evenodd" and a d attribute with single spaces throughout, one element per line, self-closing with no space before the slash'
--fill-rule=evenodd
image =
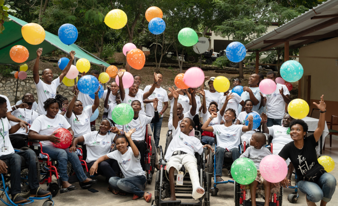
<path id="1" fill-rule="evenodd" d="M 231 165 L 231 175 L 241 185 L 249 185 L 257 176 L 257 168 L 249 158 L 238 158 Z"/>

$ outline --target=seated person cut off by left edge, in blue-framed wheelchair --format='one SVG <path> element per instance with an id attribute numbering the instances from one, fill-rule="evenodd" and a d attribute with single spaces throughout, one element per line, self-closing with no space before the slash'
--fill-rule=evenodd
<path id="1" fill-rule="evenodd" d="M 37 180 L 36 164 L 35 164 L 35 153 L 33 150 L 26 150 L 16 152 L 9 139 L 10 134 L 14 134 L 17 130 L 24 128 L 25 124 L 19 122 L 16 125 L 12 125 L 6 118 L 7 114 L 7 103 L 6 99 L 0 97 L 0 173 L 5 174 L 10 170 L 11 172 L 11 196 L 12 201 L 15 204 L 23 204 L 28 200 L 21 197 L 21 157 L 23 156 L 28 165 L 28 184 L 31 190 L 31 197 L 46 197 L 51 195 L 51 192 L 43 190 L 39 187 L 39 181 Z M 26 131 L 28 129 L 26 127 Z M 7 167 L 7 161 L 9 168 Z M 8 170 L 7 170 L 8 169 Z"/>

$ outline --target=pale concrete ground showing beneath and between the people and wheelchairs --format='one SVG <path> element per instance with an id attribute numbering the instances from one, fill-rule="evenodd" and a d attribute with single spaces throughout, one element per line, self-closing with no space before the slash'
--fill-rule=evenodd
<path id="1" fill-rule="evenodd" d="M 165 146 L 166 144 L 166 133 L 168 128 L 162 128 L 161 137 L 160 137 L 160 145 Z M 327 141 L 328 142 L 328 141 Z M 333 145 L 332 148 L 329 146 L 326 150 L 337 150 L 338 145 Z M 328 151 L 327 151 L 328 152 Z M 155 170 L 156 171 L 156 170 Z M 334 171 L 330 172 L 336 178 L 338 178 L 338 168 L 336 167 Z M 155 176 L 156 172 L 153 175 L 152 184 L 148 185 L 145 189 L 146 192 L 151 192 L 154 194 L 154 184 L 155 184 Z M 93 185 L 93 189 L 97 189 L 99 192 L 92 193 L 86 189 L 81 189 L 78 183 L 74 185 L 78 188 L 68 193 L 60 194 L 53 198 L 55 201 L 55 206 L 149 206 L 151 203 L 147 203 L 144 199 L 132 200 L 133 195 L 128 194 L 126 196 L 114 195 L 107 190 L 108 184 L 104 182 L 104 177 L 98 176 L 99 180 L 98 184 Z M 223 179 L 229 179 L 227 171 L 223 170 Z M 292 180 L 292 185 L 294 185 L 294 179 Z M 41 185 L 43 189 L 46 189 L 46 184 Z M 219 192 L 217 196 L 210 196 L 210 203 L 212 206 L 235 206 L 234 202 L 234 184 L 228 183 L 224 185 L 218 185 Z M 283 195 L 283 206 L 306 206 L 304 200 L 304 194 L 299 191 L 299 198 L 297 203 L 292 204 L 287 201 L 287 195 L 289 193 L 294 192 L 294 189 L 284 189 Z M 194 200 L 191 200 L 194 201 Z M 263 201 L 263 200 L 260 200 Z M 39 200 L 35 201 L 32 206 L 42 206 L 44 201 Z M 185 201 L 187 202 L 187 201 Z M 190 201 L 189 201 L 190 202 Z M 4 205 L 0 202 L 0 206 Z M 317 203 L 319 206 L 319 203 Z M 336 206 L 338 205 L 338 195 L 334 195 L 331 202 L 327 204 L 328 206 Z"/>

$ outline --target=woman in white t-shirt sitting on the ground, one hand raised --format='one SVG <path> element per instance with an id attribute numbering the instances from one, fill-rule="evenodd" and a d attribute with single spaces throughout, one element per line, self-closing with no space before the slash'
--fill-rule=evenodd
<path id="1" fill-rule="evenodd" d="M 152 199 L 152 194 L 144 192 L 146 188 L 146 173 L 142 170 L 140 159 L 141 155 L 132 140 L 132 134 L 136 129 L 131 129 L 125 135 L 115 138 L 116 148 L 114 152 L 101 156 L 94 162 L 90 168 L 90 175 L 93 175 L 99 169 L 101 162 L 114 159 L 124 175 L 124 178 L 111 177 L 109 185 L 112 187 L 113 194 L 124 194 L 130 192 L 134 194 L 133 200 L 143 197 L 147 202 Z M 130 147 L 128 147 L 130 146 Z"/>

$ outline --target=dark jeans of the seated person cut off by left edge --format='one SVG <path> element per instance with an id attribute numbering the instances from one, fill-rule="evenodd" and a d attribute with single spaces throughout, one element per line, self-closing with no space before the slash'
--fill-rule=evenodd
<path id="1" fill-rule="evenodd" d="M 9 163 L 11 172 L 11 195 L 14 197 L 16 194 L 21 193 L 21 156 L 26 160 L 28 168 L 28 184 L 30 189 L 39 187 L 39 181 L 36 178 L 36 164 L 35 153 L 33 150 L 20 151 L 13 154 L 1 155 L 0 160 L 6 160 Z M 2 183 L 1 183 L 2 184 Z"/>

